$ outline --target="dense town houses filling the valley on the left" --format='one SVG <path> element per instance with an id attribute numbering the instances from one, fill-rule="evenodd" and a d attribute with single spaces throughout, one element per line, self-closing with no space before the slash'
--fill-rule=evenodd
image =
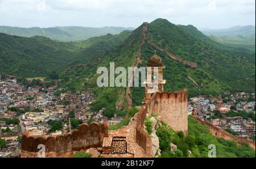
<path id="1" fill-rule="evenodd" d="M 56 84 L 27 87 L 14 77 L 0 75 L 0 139 L 6 142 L 4 148 L 0 147 L 0 157 L 17 152 L 24 130 L 32 136 L 55 136 L 70 132 L 76 122 L 108 121 L 103 110 L 90 112 L 90 104 L 96 98 L 90 89 L 55 96 L 55 87 Z M 71 112 L 73 116 L 69 117 Z"/>

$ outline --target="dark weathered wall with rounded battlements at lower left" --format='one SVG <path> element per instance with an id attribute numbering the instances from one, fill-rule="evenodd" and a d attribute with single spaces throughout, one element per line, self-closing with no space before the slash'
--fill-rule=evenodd
<path id="1" fill-rule="evenodd" d="M 108 125 L 97 122 L 81 124 L 78 130 L 58 136 L 35 137 L 23 133 L 21 157 L 37 157 L 40 144 L 46 147 L 46 157 L 71 157 L 72 151 L 101 147 L 104 137 L 108 137 Z"/>

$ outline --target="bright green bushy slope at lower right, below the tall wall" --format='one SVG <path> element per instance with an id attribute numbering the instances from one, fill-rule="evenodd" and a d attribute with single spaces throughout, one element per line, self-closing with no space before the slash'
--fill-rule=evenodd
<path id="1" fill-rule="evenodd" d="M 161 157 L 208 157 L 208 145 L 216 145 L 217 157 L 255 157 L 255 151 L 244 144 L 237 146 L 233 141 L 216 138 L 209 133 L 209 127 L 199 124 L 191 116 L 188 117 L 188 136 L 181 132 L 175 132 L 167 124 L 160 126 L 156 132 L 159 137 Z M 170 143 L 177 146 L 177 150 L 171 153 Z"/>

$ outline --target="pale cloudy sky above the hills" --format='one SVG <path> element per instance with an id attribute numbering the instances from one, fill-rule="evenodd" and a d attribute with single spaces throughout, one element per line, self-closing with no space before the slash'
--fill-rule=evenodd
<path id="1" fill-rule="evenodd" d="M 255 0 L 0 0 L 0 26 L 138 27 L 156 18 L 197 28 L 255 25 Z"/>

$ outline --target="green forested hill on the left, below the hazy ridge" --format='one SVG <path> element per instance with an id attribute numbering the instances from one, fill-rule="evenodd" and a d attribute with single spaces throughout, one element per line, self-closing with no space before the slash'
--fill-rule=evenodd
<path id="1" fill-rule="evenodd" d="M 92 37 L 81 42 L 59 42 L 47 37 L 20 37 L 0 33 L 0 73 L 17 77 L 46 77 L 76 64 L 88 64 L 126 39 L 119 35 Z"/>

